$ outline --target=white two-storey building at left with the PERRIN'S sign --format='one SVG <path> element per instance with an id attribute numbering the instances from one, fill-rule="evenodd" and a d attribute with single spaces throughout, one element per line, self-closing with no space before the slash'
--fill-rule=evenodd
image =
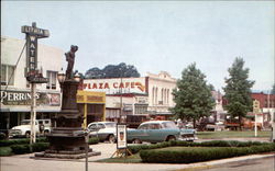
<path id="1" fill-rule="evenodd" d="M 30 83 L 25 79 L 25 41 L 1 37 L 1 107 L 0 129 L 10 129 L 30 118 Z M 57 72 L 62 68 L 64 52 L 38 44 L 40 72 L 48 78 L 47 83 L 36 84 L 36 116 L 51 118 L 61 111 L 61 89 Z M 53 62 L 54 61 L 54 62 Z"/>

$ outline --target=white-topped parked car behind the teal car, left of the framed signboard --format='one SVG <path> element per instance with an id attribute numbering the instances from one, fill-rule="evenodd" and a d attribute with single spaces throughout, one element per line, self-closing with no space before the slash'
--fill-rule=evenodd
<path id="1" fill-rule="evenodd" d="M 88 125 L 89 135 L 98 137 L 100 141 L 108 140 L 116 142 L 117 140 L 117 123 L 114 122 L 95 122 Z"/>

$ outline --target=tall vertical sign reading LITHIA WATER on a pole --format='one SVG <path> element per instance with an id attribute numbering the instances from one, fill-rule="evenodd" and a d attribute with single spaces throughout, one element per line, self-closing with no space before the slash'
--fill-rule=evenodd
<path id="1" fill-rule="evenodd" d="M 32 23 L 32 26 L 22 26 L 21 32 L 25 33 L 26 39 L 26 79 L 30 82 L 43 83 L 47 82 L 46 78 L 37 75 L 37 38 L 44 38 L 50 36 L 47 30 L 36 27 L 36 23 Z"/>

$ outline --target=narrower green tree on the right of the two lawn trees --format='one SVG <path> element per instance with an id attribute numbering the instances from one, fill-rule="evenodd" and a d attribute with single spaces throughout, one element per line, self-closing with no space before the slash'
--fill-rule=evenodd
<path id="1" fill-rule="evenodd" d="M 226 78 L 224 98 L 228 101 L 226 110 L 231 117 L 239 117 L 240 129 L 242 117 L 252 111 L 251 88 L 254 81 L 249 79 L 249 68 L 244 67 L 242 58 L 235 58 L 231 68 L 228 69 L 229 78 Z"/>

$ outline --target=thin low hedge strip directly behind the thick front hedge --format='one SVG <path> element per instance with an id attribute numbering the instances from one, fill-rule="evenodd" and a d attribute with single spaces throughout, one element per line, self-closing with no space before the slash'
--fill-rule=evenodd
<path id="1" fill-rule="evenodd" d="M 251 146 L 261 146 L 268 145 L 268 142 L 260 142 L 260 141 L 237 141 L 237 140 L 211 140 L 211 141 L 202 141 L 202 142 L 190 142 L 190 141 L 180 141 L 180 140 L 172 140 L 164 141 L 156 145 L 138 145 L 138 146 L 128 146 L 129 150 L 132 153 L 138 153 L 143 149 L 156 149 L 156 148 L 165 148 L 172 146 L 179 147 L 251 147 Z"/>

